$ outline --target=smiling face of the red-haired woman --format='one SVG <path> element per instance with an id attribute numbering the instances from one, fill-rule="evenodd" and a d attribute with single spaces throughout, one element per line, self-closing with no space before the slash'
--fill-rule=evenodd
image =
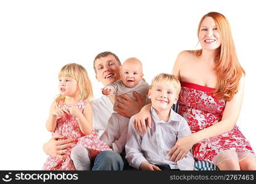
<path id="1" fill-rule="evenodd" d="M 215 50 L 221 45 L 220 33 L 212 17 L 206 17 L 202 21 L 199 31 L 199 42 L 202 49 Z"/>

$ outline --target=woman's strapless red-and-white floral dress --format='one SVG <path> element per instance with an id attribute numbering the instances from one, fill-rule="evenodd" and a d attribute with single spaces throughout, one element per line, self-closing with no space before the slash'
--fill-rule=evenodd
<path id="1" fill-rule="evenodd" d="M 178 113 L 188 121 L 192 133 L 222 120 L 226 102 L 210 95 L 213 88 L 189 82 L 181 82 L 181 85 Z M 230 132 L 195 144 L 193 155 L 198 160 L 210 161 L 216 165 L 228 159 L 241 161 L 247 156 L 256 159 L 250 143 L 236 125 Z"/>

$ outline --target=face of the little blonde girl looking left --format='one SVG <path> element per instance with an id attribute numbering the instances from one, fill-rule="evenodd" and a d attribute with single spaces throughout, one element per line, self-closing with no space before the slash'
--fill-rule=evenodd
<path id="1" fill-rule="evenodd" d="M 58 79 L 58 90 L 63 96 L 74 97 L 79 95 L 78 82 L 71 77 L 60 77 Z"/>

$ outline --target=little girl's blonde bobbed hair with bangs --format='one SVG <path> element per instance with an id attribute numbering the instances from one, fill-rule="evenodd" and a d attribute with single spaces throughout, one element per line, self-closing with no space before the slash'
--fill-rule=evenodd
<path id="1" fill-rule="evenodd" d="M 58 78 L 60 77 L 71 77 L 78 82 L 79 98 L 80 100 L 90 101 L 94 97 L 92 93 L 92 83 L 88 77 L 86 69 L 80 64 L 70 63 L 62 67 L 58 73 Z M 60 101 L 65 99 L 65 96 L 59 94 L 55 101 Z"/>

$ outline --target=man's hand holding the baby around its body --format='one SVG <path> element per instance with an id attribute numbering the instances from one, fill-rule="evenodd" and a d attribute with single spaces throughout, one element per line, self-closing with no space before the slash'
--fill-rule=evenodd
<path id="1" fill-rule="evenodd" d="M 117 104 L 117 112 L 127 118 L 132 117 L 133 115 L 140 112 L 140 109 L 142 109 L 142 99 L 140 98 L 140 95 L 135 91 L 133 94 L 137 101 L 130 98 L 130 96 L 128 96 L 127 94 L 121 94 L 120 96 L 116 96 L 115 99 L 115 102 Z"/>

